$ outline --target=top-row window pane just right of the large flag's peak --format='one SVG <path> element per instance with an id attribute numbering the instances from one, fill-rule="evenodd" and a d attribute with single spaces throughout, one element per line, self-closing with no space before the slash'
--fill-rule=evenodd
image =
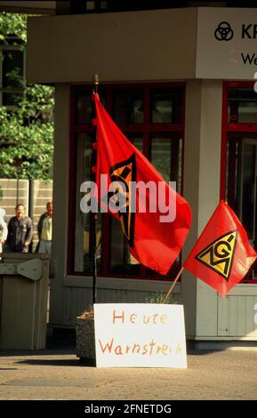
<path id="1" fill-rule="evenodd" d="M 143 92 L 141 90 L 115 91 L 112 115 L 116 124 L 141 124 L 143 122 Z"/>

